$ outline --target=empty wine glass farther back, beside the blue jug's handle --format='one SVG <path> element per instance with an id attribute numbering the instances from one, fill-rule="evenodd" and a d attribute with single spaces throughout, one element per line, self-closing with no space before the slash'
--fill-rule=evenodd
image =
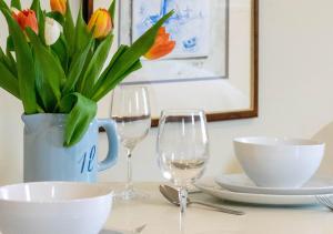
<path id="1" fill-rule="evenodd" d="M 128 180 L 120 196 L 132 200 L 141 196 L 133 190 L 132 152 L 150 130 L 151 113 L 148 90 L 144 87 L 119 87 L 113 91 L 111 113 L 117 122 L 120 141 L 127 151 Z"/>

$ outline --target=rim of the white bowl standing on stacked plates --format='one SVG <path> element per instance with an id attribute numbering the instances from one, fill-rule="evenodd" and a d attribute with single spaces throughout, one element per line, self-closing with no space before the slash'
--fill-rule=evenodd
<path id="1" fill-rule="evenodd" d="M 290 144 L 270 144 L 266 142 L 251 142 L 251 140 L 269 140 L 276 142 L 290 142 Z M 313 139 L 302 139 L 302 138 L 279 138 L 279 136 L 241 136 L 233 139 L 234 143 L 248 144 L 253 146 L 268 146 L 268 147 L 309 147 L 309 146 L 325 146 L 325 142 L 313 140 Z M 294 142 L 294 143 L 293 143 Z M 299 144 L 296 143 L 299 142 Z M 303 142 L 303 144 L 302 144 Z"/>

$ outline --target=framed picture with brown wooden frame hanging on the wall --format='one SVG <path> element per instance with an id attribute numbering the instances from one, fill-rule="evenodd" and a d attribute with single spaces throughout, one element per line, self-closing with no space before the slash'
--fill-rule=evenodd
<path id="1" fill-rule="evenodd" d="M 110 0 L 85 0 L 85 17 Z M 117 37 L 131 44 L 157 20 L 176 47 L 122 85 L 150 91 L 153 125 L 161 110 L 202 109 L 209 121 L 258 116 L 259 0 L 118 0 Z"/>

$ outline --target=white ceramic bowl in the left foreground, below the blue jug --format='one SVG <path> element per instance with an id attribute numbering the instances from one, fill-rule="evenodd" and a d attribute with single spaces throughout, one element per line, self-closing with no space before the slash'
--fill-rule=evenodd
<path id="1" fill-rule="evenodd" d="M 0 187 L 2 234 L 98 234 L 112 191 L 97 184 L 39 182 Z"/>

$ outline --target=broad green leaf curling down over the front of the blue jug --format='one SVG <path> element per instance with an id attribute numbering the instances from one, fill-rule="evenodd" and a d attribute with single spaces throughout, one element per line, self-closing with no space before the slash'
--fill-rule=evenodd
<path id="1" fill-rule="evenodd" d="M 97 114 L 97 103 L 80 93 L 71 93 L 61 100 L 60 110 L 62 113 L 69 113 L 63 143 L 69 147 L 78 143 L 85 134 Z"/>

